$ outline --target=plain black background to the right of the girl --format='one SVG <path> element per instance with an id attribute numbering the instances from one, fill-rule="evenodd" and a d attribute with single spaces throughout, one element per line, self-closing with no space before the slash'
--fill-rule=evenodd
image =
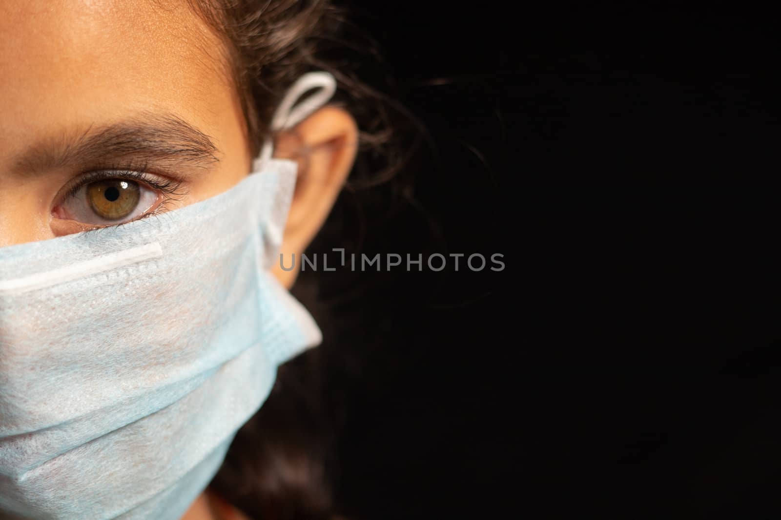
<path id="1" fill-rule="evenodd" d="M 351 6 L 437 150 L 384 246 L 506 267 L 376 297 L 344 510 L 776 516 L 769 13 L 501 5 Z"/>

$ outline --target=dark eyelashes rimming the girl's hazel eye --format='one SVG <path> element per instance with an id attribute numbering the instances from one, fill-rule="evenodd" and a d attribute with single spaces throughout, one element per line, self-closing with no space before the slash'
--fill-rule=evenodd
<path id="1" fill-rule="evenodd" d="M 162 177 L 160 175 L 149 175 L 146 173 L 148 168 L 147 164 L 123 164 L 119 165 L 107 165 L 98 170 L 93 170 L 82 176 L 80 176 L 73 186 L 69 186 L 65 195 L 61 197 L 60 203 L 67 200 L 69 197 L 76 196 L 79 189 L 89 184 L 90 182 L 102 181 L 105 179 L 127 179 L 135 182 L 140 182 L 149 186 L 152 189 L 159 190 L 164 200 L 159 203 L 155 210 L 141 215 L 141 217 L 134 218 L 133 221 L 141 220 L 142 218 L 148 218 L 164 212 L 169 203 L 179 200 L 180 197 L 187 195 L 187 190 L 183 189 L 184 182 L 177 179 L 170 179 L 168 177 Z M 161 182 L 161 179 L 165 179 Z M 132 222 L 132 221 L 129 221 Z M 127 222 L 125 222 L 127 224 Z M 119 224 L 121 225 L 121 224 Z M 111 226 L 109 226 L 111 227 Z"/>

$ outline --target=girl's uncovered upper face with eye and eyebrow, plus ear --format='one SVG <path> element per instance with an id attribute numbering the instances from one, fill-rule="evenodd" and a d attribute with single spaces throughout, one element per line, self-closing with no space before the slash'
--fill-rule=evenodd
<path id="1" fill-rule="evenodd" d="M 0 246 L 150 217 L 248 174 L 223 44 L 184 0 L 5 0 L 0 37 Z M 326 109 L 296 142 L 356 137 Z M 286 253 L 306 246 L 350 170 L 355 147 L 321 148 Z"/>

